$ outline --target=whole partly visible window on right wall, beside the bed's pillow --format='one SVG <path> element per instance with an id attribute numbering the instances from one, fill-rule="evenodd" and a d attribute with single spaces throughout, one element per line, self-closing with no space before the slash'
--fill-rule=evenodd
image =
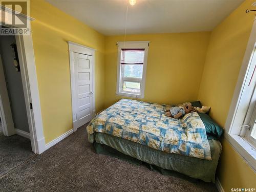
<path id="1" fill-rule="evenodd" d="M 256 27 L 253 29 L 256 30 Z M 252 31 L 225 124 L 226 139 L 254 170 L 256 170 L 255 39 L 256 35 Z"/>

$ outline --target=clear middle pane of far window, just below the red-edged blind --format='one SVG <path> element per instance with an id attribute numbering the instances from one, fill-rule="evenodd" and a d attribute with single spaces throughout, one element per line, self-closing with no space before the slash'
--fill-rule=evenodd
<path id="1" fill-rule="evenodd" d="M 142 78 L 143 65 L 124 65 L 124 77 Z"/>

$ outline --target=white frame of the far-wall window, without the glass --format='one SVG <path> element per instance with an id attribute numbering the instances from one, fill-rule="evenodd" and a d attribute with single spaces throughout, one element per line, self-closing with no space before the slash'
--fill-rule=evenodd
<path id="1" fill-rule="evenodd" d="M 146 68 L 147 68 L 147 56 L 150 41 L 119 41 L 117 42 L 117 83 L 116 83 L 116 95 L 122 95 L 127 97 L 144 98 L 145 84 L 146 84 Z M 144 49 L 144 61 L 142 78 L 138 78 L 136 82 L 140 82 L 140 93 L 133 93 L 124 91 L 122 86 L 125 81 L 134 81 L 136 78 L 123 77 L 124 65 L 121 65 L 121 53 L 122 49 Z M 123 77 L 123 78 L 122 78 Z M 135 82 L 135 81 L 134 81 Z"/>

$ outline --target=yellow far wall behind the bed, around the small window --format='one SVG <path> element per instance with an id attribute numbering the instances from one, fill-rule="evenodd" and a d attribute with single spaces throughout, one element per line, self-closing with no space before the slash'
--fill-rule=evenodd
<path id="1" fill-rule="evenodd" d="M 144 101 L 181 103 L 197 99 L 210 32 L 127 35 L 126 41 L 150 40 Z M 117 41 L 105 39 L 105 107 L 116 95 Z"/>

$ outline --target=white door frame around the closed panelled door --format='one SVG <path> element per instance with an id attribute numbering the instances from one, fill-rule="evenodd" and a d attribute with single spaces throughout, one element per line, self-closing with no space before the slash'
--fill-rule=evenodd
<path id="1" fill-rule="evenodd" d="M 92 64 L 92 84 L 93 84 L 93 117 L 95 117 L 95 49 L 87 47 L 87 46 L 83 46 L 80 44 L 77 44 L 75 42 L 72 41 L 68 41 L 69 44 L 69 59 L 70 59 L 70 80 L 71 80 L 71 96 L 72 96 L 72 126 L 73 126 L 73 130 L 74 132 L 77 130 L 76 127 L 74 127 L 74 119 L 76 119 L 76 113 L 77 113 L 77 109 L 75 108 L 75 103 L 76 103 L 76 89 L 75 89 L 75 68 L 74 68 L 74 53 L 79 53 L 79 54 L 85 54 L 85 55 L 89 55 L 92 56 L 92 60 L 90 61 L 90 63 Z"/>

